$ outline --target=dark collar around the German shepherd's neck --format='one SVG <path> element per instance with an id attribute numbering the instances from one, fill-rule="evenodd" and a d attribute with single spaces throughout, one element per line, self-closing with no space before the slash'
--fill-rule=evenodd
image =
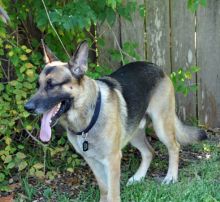
<path id="1" fill-rule="evenodd" d="M 72 131 L 72 130 L 70 130 L 70 129 L 69 129 L 69 130 L 70 130 L 72 133 L 74 133 L 75 135 L 83 135 L 83 134 L 88 133 L 88 132 L 92 129 L 92 127 L 95 125 L 95 123 L 96 123 L 96 121 L 97 121 L 97 119 L 98 119 L 98 117 L 99 117 L 99 112 L 100 112 L 100 108 L 101 108 L 101 101 L 102 101 L 102 97 L 101 97 L 101 92 L 100 92 L 100 90 L 99 90 L 99 92 L 98 92 L 98 98 L 97 98 L 97 100 L 96 100 L 96 105 L 95 105 L 94 114 L 93 114 L 92 119 L 91 119 L 89 125 L 87 126 L 87 128 L 84 129 L 83 131 L 80 131 L 80 132 L 74 132 L 74 131 Z"/>

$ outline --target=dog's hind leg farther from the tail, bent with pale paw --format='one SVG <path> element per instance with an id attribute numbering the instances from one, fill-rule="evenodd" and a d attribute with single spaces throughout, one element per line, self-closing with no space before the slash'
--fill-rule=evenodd
<path id="1" fill-rule="evenodd" d="M 138 129 L 137 134 L 133 137 L 130 143 L 140 151 L 142 160 L 138 170 L 128 180 L 127 185 L 139 182 L 145 177 L 154 153 L 153 148 L 151 147 L 147 140 L 147 137 L 145 136 L 144 128 Z"/>

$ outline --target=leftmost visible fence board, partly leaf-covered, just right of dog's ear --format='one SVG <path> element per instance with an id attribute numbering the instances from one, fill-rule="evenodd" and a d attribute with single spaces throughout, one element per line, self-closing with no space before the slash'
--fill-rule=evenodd
<path id="1" fill-rule="evenodd" d="M 98 62 L 101 66 L 111 68 L 113 70 L 121 66 L 121 62 L 114 61 L 111 54 L 108 52 L 110 49 L 118 49 L 120 46 L 120 23 L 119 18 L 116 19 L 113 26 L 104 22 L 97 25 L 97 35 L 101 37 L 105 45 L 99 47 Z"/>

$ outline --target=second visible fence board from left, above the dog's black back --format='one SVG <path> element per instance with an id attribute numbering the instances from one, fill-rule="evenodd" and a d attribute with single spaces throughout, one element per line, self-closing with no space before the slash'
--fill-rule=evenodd
<path id="1" fill-rule="evenodd" d="M 121 40 L 122 47 L 126 42 L 132 42 L 137 45 L 137 53 L 140 56 L 139 60 L 145 60 L 145 26 L 144 17 L 141 17 L 138 12 L 139 5 L 143 5 L 144 0 L 137 1 L 137 12 L 132 14 L 132 21 L 121 19 Z M 134 61 L 131 57 L 126 57 L 129 61 Z"/>

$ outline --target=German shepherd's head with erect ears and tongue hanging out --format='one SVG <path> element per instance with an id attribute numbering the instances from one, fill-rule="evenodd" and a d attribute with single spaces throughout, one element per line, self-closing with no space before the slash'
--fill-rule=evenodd
<path id="1" fill-rule="evenodd" d="M 59 61 L 44 44 L 43 49 L 46 65 L 39 75 L 38 91 L 25 104 L 25 109 L 43 114 L 40 139 L 47 142 L 51 138 L 51 126 L 74 105 L 74 98 L 82 94 L 88 44 L 82 42 L 68 63 Z"/>

